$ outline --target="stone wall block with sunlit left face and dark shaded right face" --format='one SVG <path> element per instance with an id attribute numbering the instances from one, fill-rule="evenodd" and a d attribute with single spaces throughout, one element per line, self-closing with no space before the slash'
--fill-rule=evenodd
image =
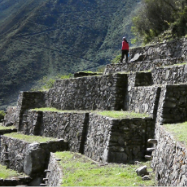
<path id="1" fill-rule="evenodd" d="M 119 120 L 90 114 L 84 154 L 101 162 L 141 160 L 153 134 L 154 121 L 150 118 Z"/>

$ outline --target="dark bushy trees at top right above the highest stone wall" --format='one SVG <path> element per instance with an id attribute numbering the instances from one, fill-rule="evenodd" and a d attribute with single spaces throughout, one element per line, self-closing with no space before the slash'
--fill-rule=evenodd
<path id="1" fill-rule="evenodd" d="M 133 18 L 132 32 L 144 43 L 155 37 L 173 39 L 187 34 L 186 0 L 143 0 Z"/>

